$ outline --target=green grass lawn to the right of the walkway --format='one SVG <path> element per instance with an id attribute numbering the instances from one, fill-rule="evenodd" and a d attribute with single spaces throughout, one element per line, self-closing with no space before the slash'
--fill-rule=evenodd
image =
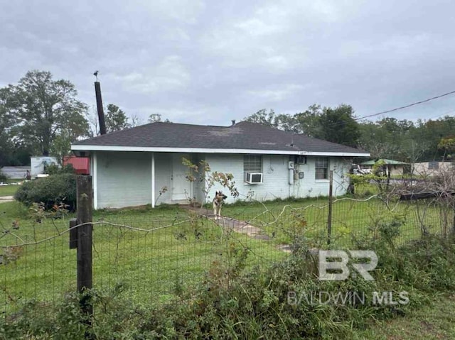
<path id="1" fill-rule="evenodd" d="M 232 216 L 260 226 L 279 243 L 292 243 L 295 235 L 304 235 L 311 246 L 324 247 L 328 235 L 328 199 L 303 199 L 289 202 L 252 202 L 223 208 Z M 450 209 L 441 209 L 430 202 L 390 202 L 380 199 L 336 199 L 332 209 L 331 243 L 348 247 L 362 236 L 374 236 L 380 226 L 402 220 L 400 242 L 419 238 L 421 226 L 430 233 L 446 232 L 451 226 Z"/>

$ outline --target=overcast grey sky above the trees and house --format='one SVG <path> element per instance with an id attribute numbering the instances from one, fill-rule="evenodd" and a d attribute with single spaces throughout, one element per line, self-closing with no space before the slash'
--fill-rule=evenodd
<path id="1" fill-rule="evenodd" d="M 48 70 L 145 123 L 230 125 L 259 109 L 357 116 L 455 90 L 455 1 L 0 0 L 0 87 Z M 397 111 L 454 116 L 455 94 Z M 379 116 L 381 117 L 381 116 Z"/>

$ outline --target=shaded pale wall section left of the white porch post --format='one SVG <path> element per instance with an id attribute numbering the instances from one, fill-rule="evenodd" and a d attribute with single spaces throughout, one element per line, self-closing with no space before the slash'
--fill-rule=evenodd
<path id="1" fill-rule="evenodd" d="M 97 152 L 97 209 L 151 204 L 151 154 Z"/>

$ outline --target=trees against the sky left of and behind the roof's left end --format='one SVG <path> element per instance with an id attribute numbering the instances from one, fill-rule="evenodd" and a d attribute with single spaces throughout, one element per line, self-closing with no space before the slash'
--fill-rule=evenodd
<path id="1" fill-rule="evenodd" d="M 161 115 L 149 121 L 161 121 Z M 105 107 L 105 123 L 108 133 L 143 124 L 115 104 Z M 0 88 L 0 167 L 28 165 L 31 155 L 62 160 L 73 141 L 99 135 L 98 125 L 96 110 L 77 99 L 71 82 L 29 71 L 18 84 Z"/>

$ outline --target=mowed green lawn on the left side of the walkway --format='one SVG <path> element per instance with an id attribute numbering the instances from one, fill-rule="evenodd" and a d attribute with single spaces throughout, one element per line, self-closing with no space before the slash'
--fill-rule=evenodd
<path id="1" fill-rule="evenodd" d="M 9 263 L 0 265 L 2 309 L 31 298 L 52 302 L 75 290 L 77 251 L 69 249 L 69 234 L 64 233 L 73 216 L 38 223 L 18 202 L 0 204 L 0 246 L 10 246 L 2 251 Z M 99 211 L 94 221 L 95 288 L 122 285 L 140 303 L 166 300 L 177 285 L 200 282 L 213 263 L 230 261 L 235 248 L 250 249 L 248 265 L 286 256 L 274 242 L 237 234 L 176 207 Z M 13 224 L 19 229 L 12 229 Z"/>

